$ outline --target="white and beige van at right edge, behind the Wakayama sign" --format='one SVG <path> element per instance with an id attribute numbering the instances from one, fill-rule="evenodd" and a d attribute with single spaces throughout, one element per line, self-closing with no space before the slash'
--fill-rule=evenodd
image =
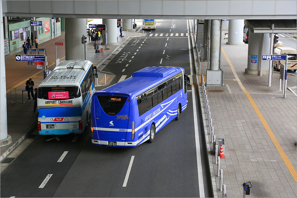
<path id="1" fill-rule="evenodd" d="M 293 49 L 291 47 L 276 47 L 274 49 L 273 54 L 276 55 L 288 55 L 288 63 L 287 63 L 287 69 L 293 69 L 294 72 L 297 70 L 297 52 L 296 49 Z M 276 71 L 279 71 L 280 69 L 280 63 L 286 64 L 285 60 L 274 60 L 273 66 L 276 68 Z"/>

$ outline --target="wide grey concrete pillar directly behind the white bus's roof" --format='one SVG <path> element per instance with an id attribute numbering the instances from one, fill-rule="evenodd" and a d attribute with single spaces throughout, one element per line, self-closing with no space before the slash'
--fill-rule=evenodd
<path id="1" fill-rule="evenodd" d="M 87 37 L 86 23 L 85 18 L 65 18 L 65 60 L 85 60 L 81 37 Z"/>

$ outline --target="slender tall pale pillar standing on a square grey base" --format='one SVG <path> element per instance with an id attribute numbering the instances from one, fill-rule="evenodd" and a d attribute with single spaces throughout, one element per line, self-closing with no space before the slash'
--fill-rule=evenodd
<path id="1" fill-rule="evenodd" d="M 219 43 L 220 43 L 220 20 L 211 20 L 210 33 L 210 70 L 216 71 L 219 69 Z"/>

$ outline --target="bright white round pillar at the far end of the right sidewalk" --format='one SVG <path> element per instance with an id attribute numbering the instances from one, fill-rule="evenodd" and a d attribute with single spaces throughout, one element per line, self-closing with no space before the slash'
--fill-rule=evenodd
<path id="1" fill-rule="evenodd" d="M 228 25 L 228 45 L 244 45 L 244 20 L 230 19 Z"/>

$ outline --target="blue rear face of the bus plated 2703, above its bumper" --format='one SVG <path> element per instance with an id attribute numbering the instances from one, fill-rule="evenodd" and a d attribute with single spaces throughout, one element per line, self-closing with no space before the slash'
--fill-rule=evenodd
<path id="1" fill-rule="evenodd" d="M 129 97 L 96 95 L 94 97 L 94 109 L 93 127 L 97 127 L 97 133 L 94 131 L 94 138 L 115 141 L 125 141 L 127 139 L 130 110 Z"/>

